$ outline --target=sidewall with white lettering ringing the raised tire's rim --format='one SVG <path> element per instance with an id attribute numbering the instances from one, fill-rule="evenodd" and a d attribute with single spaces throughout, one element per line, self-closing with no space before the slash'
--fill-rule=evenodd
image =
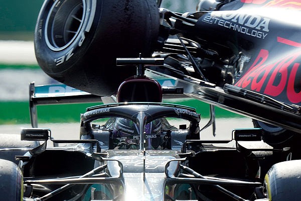
<path id="1" fill-rule="evenodd" d="M 97 0 L 83 0 L 86 8 L 83 11 L 83 24 L 78 31 L 74 40 L 66 47 L 60 50 L 52 50 L 47 45 L 47 18 L 51 13 L 49 10 L 61 1 L 47 0 L 44 2 L 38 16 L 37 25 L 35 29 L 35 51 L 36 57 L 41 68 L 49 75 L 56 76 L 57 73 L 62 73 L 71 68 L 77 60 L 83 55 L 91 41 L 95 32 L 95 25 L 99 18 L 99 8 L 101 1 Z M 98 12 L 96 13 L 96 10 Z M 44 66 L 52 66 L 52 68 L 44 68 Z M 54 68 L 53 66 L 56 66 Z"/>

